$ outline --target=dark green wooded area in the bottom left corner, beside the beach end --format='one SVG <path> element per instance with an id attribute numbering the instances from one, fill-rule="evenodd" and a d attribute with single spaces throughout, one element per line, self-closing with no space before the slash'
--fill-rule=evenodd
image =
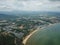
<path id="1" fill-rule="evenodd" d="M 0 45 L 23 45 L 13 33 L 0 31 Z"/>

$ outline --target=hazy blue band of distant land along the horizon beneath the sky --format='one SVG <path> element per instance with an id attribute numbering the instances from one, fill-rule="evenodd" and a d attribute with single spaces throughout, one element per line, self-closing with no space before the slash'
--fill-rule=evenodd
<path id="1" fill-rule="evenodd" d="M 0 11 L 0 15 L 41 15 L 41 16 L 60 16 L 60 12 L 52 12 L 52 11 Z"/>

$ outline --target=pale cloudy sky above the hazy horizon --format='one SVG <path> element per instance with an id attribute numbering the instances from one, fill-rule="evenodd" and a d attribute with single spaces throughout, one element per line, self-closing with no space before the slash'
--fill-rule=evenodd
<path id="1" fill-rule="evenodd" d="M 0 11 L 60 11 L 60 0 L 0 0 Z"/>

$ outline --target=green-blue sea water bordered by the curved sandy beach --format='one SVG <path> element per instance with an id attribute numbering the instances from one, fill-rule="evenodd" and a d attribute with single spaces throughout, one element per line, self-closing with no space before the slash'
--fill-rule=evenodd
<path id="1" fill-rule="evenodd" d="M 26 45 L 60 45 L 60 23 L 38 30 Z"/>

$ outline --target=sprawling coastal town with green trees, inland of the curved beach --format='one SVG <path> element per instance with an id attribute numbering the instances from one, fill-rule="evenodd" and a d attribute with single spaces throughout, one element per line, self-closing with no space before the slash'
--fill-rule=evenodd
<path id="1" fill-rule="evenodd" d="M 0 40 L 6 45 L 24 45 L 22 41 L 38 26 L 41 28 L 59 22 L 60 17 L 57 16 L 22 16 L 16 19 L 0 19 Z M 0 41 L 0 45 L 4 44 Z"/>

